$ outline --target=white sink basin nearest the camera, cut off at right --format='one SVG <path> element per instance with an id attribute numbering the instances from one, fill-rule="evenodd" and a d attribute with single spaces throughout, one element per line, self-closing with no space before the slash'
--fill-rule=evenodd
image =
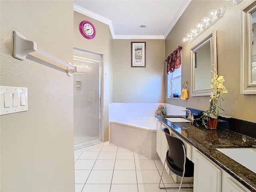
<path id="1" fill-rule="evenodd" d="M 256 148 L 216 148 L 226 156 L 256 173 Z"/>

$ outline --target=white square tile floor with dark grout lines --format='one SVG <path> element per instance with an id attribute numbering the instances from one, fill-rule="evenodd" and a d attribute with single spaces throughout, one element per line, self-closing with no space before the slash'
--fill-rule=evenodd
<path id="1" fill-rule="evenodd" d="M 158 188 L 163 168 L 159 159 L 151 160 L 112 144 L 75 150 L 74 154 L 76 192 L 178 192 Z M 179 186 L 166 171 L 162 182 L 166 187 Z M 181 191 L 191 192 L 193 189 Z"/>

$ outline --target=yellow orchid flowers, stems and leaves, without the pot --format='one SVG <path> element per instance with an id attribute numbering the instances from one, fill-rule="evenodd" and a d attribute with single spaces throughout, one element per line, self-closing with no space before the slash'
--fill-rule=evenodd
<path id="1" fill-rule="evenodd" d="M 226 90 L 225 86 L 223 85 L 223 82 L 225 81 L 225 79 L 223 78 L 223 76 L 218 76 L 218 73 L 215 67 L 214 67 L 214 72 L 212 70 L 211 72 L 213 73 L 212 85 L 211 85 L 211 89 L 213 91 L 211 92 L 211 95 L 210 95 L 211 99 L 209 100 L 210 108 L 204 113 L 203 117 L 209 116 L 211 118 L 217 119 L 220 114 L 220 110 L 224 111 L 218 105 L 218 102 L 220 103 L 220 98 L 222 98 L 221 97 L 222 94 L 227 93 L 228 90 Z"/>

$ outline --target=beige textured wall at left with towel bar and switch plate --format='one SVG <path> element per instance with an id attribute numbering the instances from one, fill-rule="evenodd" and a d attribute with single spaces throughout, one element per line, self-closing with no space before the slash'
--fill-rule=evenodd
<path id="1" fill-rule="evenodd" d="M 0 116 L 1 191 L 74 191 L 73 78 L 12 57 L 12 31 L 72 62 L 72 1 L 1 1 L 1 85 L 28 87 L 28 111 Z M 64 30 L 63 30 L 64 29 Z"/>

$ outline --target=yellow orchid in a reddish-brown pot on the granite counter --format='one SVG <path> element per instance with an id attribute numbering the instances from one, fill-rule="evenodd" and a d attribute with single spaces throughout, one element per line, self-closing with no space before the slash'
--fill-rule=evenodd
<path id="1" fill-rule="evenodd" d="M 210 107 L 206 112 L 203 113 L 202 120 L 206 128 L 216 129 L 218 125 L 218 116 L 220 114 L 220 110 L 224 111 L 220 107 L 220 99 L 222 99 L 221 97 L 222 94 L 227 93 L 228 90 L 226 90 L 225 86 L 223 85 L 223 82 L 225 81 L 225 79 L 223 78 L 223 76 L 218 76 L 218 73 L 215 67 L 214 67 L 214 72 L 212 70 L 211 72 L 213 73 L 212 85 L 211 85 L 211 89 L 213 91 L 211 92 L 211 95 L 210 95 L 211 99 L 209 100 Z"/>

